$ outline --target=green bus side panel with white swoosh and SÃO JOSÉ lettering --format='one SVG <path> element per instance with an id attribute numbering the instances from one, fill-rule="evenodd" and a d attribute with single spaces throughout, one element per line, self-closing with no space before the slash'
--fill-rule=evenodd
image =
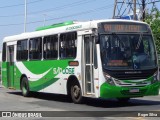
<path id="1" fill-rule="evenodd" d="M 16 76 L 20 80 L 22 75 L 26 75 L 31 91 L 43 91 L 57 81 L 66 81 L 65 78 L 68 78 L 68 75 L 74 74 L 75 68 L 68 66 L 69 61 L 72 59 L 16 62 Z M 60 86 L 64 86 L 63 82 L 54 89 Z"/>

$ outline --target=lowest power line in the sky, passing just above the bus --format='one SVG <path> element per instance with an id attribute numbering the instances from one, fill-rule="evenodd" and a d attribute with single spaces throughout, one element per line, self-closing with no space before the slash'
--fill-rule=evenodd
<path id="1" fill-rule="evenodd" d="M 83 15 L 83 14 L 89 14 L 89 13 L 92 13 L 92 12 L 97 12 L 97 11 L 100 11 L 100 10 L 109 9 L 113 6 L 114 6 L 113 4 L 110 4 L 110 5 L 107 5 L 107 6 L 102 6 L 102 7 L 99 7 L 99 8 L 96 8 L 96 9 L 91 9 L 91 10 L 88 10 L 88 11 L 83 11 L 83 12 L 74 13 L 74 14 L 70 14 L 70 15 L 66 15 L 66 16 L 62 16 L 62 17 L 56 17 L 56 18 L 48 19 L 46 21 L 69 18 L 69 17 L 79 16 L 79 15 Z M 43 22 L 43 20 L 32 21 L 32 22 L 28 22 L 26 24 L 35 24 L 35 23 L 41 23 L 41 22 Z M 23 25 L 23 24 L 24 23 L 12 23 L 12 24 L 0 25 L 0 26 L 1 27 L 6 27 L 6 26 L 16 26 L 16 25 Z"/>

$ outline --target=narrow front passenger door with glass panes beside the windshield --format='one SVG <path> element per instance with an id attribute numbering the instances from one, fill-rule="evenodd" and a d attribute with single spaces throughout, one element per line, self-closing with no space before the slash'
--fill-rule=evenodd
<path id="1" fill-rule="evenodd" d="M 83 73 L 83 89 L 85 95 L 94 94 L 94 40 L 91 35 L 85 35 L 83 39 L 83 52 L 82 52 L 82 73 Z"/>

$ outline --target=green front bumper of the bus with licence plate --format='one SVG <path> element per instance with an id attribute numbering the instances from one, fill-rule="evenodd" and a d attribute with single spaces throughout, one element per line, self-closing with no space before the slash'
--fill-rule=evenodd
<path id="1" fill-rule="evenodd" d="M 100 87 L 101 98 L 133 98 L 159 94 L 160 82 L 143 87 L 120 87 L 103 83 Z"/>

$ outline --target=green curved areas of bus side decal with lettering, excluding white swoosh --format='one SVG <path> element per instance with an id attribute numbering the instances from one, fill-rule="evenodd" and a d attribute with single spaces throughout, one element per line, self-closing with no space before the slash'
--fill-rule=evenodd
<path id="1" fill-rule="evenodd" d="M 33 74 L 42 74 L 46 71 L 48 71 L 50 68 L 52 68 L 48 73 L 38 78 L 31 78 L 31 76 L 27 76 L 29 80 L 29 87 L 31 91 L 39 91 L 42 90 L 51 84 L 55 83 L 56 81 L 60 80 L 58 77 L 58 74 L 74 74 L 74 68 L 67 67 L 69 60 L 46 60 L 46 61 L 26 61 L 23 62 L 24 66 Z M 22 73 L 17 68 L 16 70 L 16 77 L 20 79 Z M 57 76 L 57 77 L 56 77 Z M 34 80 L 35 79 L 35 80 Z"/>

